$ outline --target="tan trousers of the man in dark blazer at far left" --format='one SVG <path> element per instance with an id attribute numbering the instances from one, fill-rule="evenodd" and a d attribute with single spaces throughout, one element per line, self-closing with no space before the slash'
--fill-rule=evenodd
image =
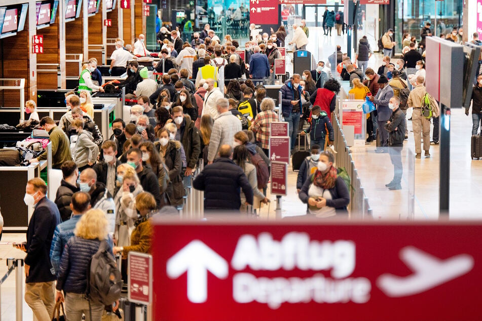
<path id="1" fill-rule="evenodd" d="M 39 321 L 51 321 L 55 307 L 54 282 L 25 284 L 25 302 Z"/>

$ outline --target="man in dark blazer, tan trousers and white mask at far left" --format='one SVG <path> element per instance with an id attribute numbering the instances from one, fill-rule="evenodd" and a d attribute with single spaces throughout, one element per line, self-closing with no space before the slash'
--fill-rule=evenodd
<path id="1" fill-rule="evenodd" d="M 34 210 L 27 227 L 27 242 L 16 246 L 27 254 L 24 259 L 25 302 L 39 320 L 50 320 L 54 311 L 56 277 L 51 272 L 49 253 L 55 227 L 60 224 L 59 210 L 46 194 L 47 184 L 41 178 L 27 182 L 23 200 Z"/>

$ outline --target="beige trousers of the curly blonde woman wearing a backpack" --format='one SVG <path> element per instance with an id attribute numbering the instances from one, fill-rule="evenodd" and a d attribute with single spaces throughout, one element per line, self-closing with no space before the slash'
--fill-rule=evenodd
<path id="1" fill-rule="evenodd" d="M 65 293 L 65 315 L 67 321 L 81 321 L 82 314 L 85 314 L 86 321 L 100 320 L 104 306 L 102 304 L 90 303 L 92 319 L 90 318 L 89 301 L 83 293 Z"/>

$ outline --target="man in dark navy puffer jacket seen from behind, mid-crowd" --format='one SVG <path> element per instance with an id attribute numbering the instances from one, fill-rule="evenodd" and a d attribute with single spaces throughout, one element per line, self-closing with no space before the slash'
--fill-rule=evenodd
<path id="1" fill-rule="evenodd" d="M 239 212 L 241 207 L 240 189 L 246 202 L 253 204 L 253 190 L 243 170 L 231 156 L 230 145 L 219 148 L 219 157 L 204 168 L 196 177 L 193 187 L 204 191 L 204 210 Z"/>

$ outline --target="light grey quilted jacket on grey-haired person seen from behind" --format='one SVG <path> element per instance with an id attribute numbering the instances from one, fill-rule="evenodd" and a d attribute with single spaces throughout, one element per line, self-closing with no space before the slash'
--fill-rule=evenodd
<path id="1" fill-rule="evenodd" d="M 224 112 L 214 121 L 209 143 L 208 159 L 216 157 L 219 147 L 224 144 L 233 145 L 234 134 L 242 130 L 241 121 L 231 111 Z"/>

